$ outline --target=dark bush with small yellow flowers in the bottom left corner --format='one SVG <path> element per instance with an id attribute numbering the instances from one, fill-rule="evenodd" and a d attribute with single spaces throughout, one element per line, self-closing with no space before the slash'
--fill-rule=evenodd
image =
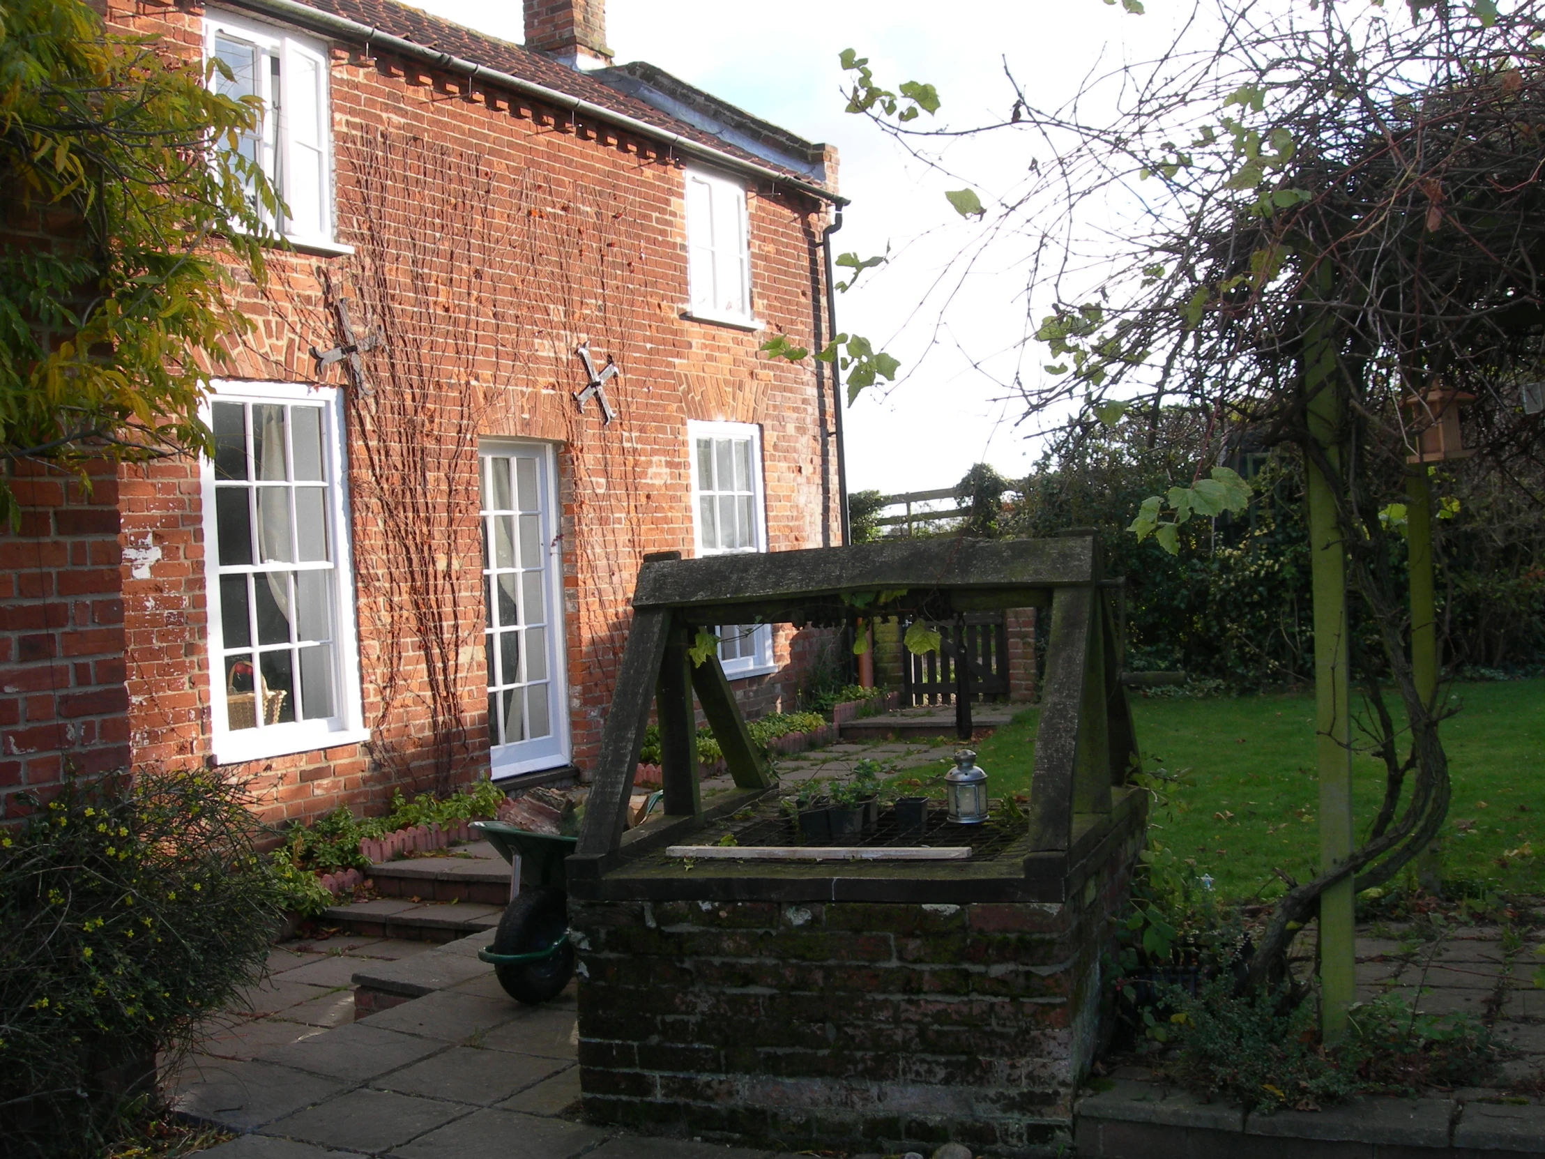
<path id="1" fill-rule="evenodd" d="M 219 773 L 66 785 L 0 836 L 0 1106 L 14 1156 L 97 1154 L 158 1052 L 264 972 L 283 887 Z"/>

